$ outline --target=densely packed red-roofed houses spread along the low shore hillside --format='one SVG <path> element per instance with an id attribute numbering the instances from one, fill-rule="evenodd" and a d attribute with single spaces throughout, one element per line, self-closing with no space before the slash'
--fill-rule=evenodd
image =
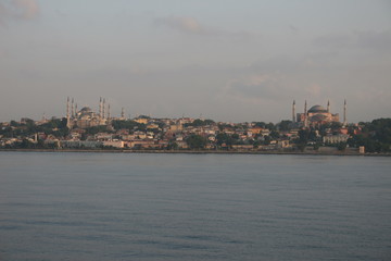
<path id="1" fill-rule="evenodd" d="M 117 127 L 121 124 L 134 123 L 131 128 Z M 35 122 L 37 126 L 48 123 L 48 120 Z M 1 123 L 1 129 L 22 128 Z M 100 126 L 99 132 L 91 132 L 90 127 L 73 126 L 66 135 L 59 136 L 58 127 L 52 132 L 37 132 L 24 136 L 23 134 L 10 137 L 0 133 L 0 147 L 12 147 L 17 142 L 27 140 L 30 144 L 40 144 L 58 149 L 192 149 L 189 137 L 202 137 L 202 149 L 207 150 L 293 150 L 294 141 L 299 138 L 300 128 L 294 126 L 287 130 L 274 126 L 260 126 L 258 123 L 215 123 L 201 119 L 150 119 L 136 117 L 130 120 L 112 119 L 106 125 Z M 318 140 L 324 144 L 346 142 L 350 135 L 346 128 L 326 129 L 326 135 L 316 133 Z"/>

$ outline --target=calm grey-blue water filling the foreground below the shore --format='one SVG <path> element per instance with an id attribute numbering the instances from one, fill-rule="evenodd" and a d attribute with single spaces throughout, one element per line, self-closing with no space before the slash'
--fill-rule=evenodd
<path id="1" fill-rule="evenodd" d="M 391 260 L 391 158 L 0 152 L 0 260 Z"/>

